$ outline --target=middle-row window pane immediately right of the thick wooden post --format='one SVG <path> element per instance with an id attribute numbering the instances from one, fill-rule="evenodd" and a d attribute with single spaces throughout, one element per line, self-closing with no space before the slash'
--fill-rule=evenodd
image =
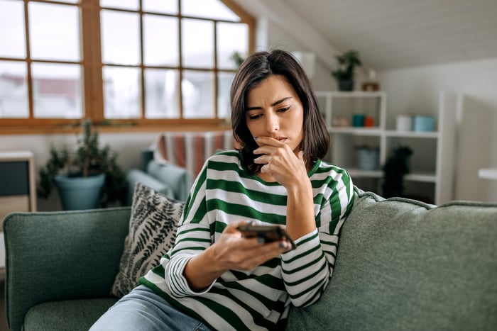
<path id="1" fill-rule="evenodd" d="M 102 61 L 113 64 L 140 62 L 138 13 L 102 10 Z"/>

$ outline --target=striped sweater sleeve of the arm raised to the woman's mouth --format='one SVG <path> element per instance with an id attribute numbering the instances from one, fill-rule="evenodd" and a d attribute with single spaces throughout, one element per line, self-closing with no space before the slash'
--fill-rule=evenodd
<path id="1" fill-rule="evenodd" d="M 332 193 L 320 206 L 318 228 L 296 240 L 297 249 L 281 256 L 283 281 L 293 305 L 311 305 L 322 295 L 331 279 L 339 231 L 353 204 L 349 174 L 342 172 L 331 181 Z"/>

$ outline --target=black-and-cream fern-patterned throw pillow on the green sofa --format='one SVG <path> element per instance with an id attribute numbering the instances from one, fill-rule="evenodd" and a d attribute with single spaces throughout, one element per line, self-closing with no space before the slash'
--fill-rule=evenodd
<path id="1" fill-rule="evenodd" d="M 174 245 L 184 203 L 167 198 L 137 182 L 131 205 L 129 234 L 111 293 L 118 298 L 129 293 L 140 276 L 159 264 Z"/>

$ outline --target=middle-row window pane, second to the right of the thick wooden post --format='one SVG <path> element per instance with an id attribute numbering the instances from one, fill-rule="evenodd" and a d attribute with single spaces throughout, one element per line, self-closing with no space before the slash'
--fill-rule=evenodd
<path id="1" fill-rule="evenodd" d="M 178 18 L 143 15 L 143 47 L 145 64 L 178 66 Z"/>

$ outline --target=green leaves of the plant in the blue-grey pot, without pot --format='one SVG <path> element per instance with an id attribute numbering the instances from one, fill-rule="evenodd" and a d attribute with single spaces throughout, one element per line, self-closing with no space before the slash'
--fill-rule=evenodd
<path id="1" fill-rule="evenodd" d="M 105 174 L 105 184 L 100 198 L 100 207 L 110 203 L 126 201 L 125 174 L 117 163 L 117 153 L 109 145 L 99 147 L 99 135 L 93 130 L 90 120 L 81 123 L 82 137 L 77 140 L 75 152 L 67 146 L 58 150 L 50 146 L 50 157 L 39 170 L 38 196 L 48 198 L 55 187 L 55 176 L 64 174 L 70 177 L 87 177 Z"/>

